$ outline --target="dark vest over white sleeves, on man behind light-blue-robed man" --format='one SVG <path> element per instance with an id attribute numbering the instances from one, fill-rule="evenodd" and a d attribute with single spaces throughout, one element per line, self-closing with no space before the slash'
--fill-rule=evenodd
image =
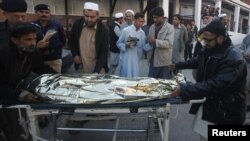
<path id="1" fill-rule="evenodd" d="M 115 53 L 120 53 L 120 49 L 117 47 L 116 42 L 118 41 L 119 37 L 115 34 L 115 27 L 118 26 L 120 28 L 120 25 L 113 22 L 110 26 L 110 51 Z"/>

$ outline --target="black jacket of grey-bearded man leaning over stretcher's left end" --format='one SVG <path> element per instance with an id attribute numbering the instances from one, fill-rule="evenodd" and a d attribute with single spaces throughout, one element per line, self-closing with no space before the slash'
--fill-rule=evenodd
<path id="1" fill-rule="evenodd" d="M 17 86 L 31 72 L 52 73 L 53 69 L 43 64 L 40 53 L 20 53 L 15 45 L 0 48 L 0 101 L 16 102 L 21 92 Z"/>

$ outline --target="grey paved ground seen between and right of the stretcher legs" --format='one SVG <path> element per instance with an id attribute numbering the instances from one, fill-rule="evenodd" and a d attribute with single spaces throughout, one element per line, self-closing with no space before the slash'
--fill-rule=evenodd
<path id="1" fill-rule="evenodd" d="M 170 119 L 169 141 L 199 141 L 197 134 L 192 131 L 193 116 L 188 114 L 190 105 L 172 106 Z M 178 110 L 177 110 L 178 109 Z M 61 116 L 58 119 L 58 126 L 64 127 L 67 116 Z M 120 129 L 146 129 L 148 123 L 147 117 L 123 117 L 120 119 Z M 152 121 L 151 119 L 150 121 Z M 114 128 L 113 120 L 90 121 L 83 126 L 84 128 Z M 41 136 L 49 139 L 52 134 L 52 126 L 42 129 Z M 113 132 L 90 132 L 84 131 L 76 135 L 70 135 L 67 131 L 59 131 L 58 137 L 63 141 L 111 141 Z M 117 141 L 145 141 L 145 133 L 118 133 Z M 150 122 L 149 141 L 161 141 L 159 128 Z"/>

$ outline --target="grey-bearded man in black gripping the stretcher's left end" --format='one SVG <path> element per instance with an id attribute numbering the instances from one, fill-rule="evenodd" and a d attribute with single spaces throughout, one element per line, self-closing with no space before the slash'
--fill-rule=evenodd
<path id="1" fill-rule="evenodd" d="M 43 64 L 36 47 L 37 28 L 21 23 L 12 28 L 10 42 L 0 48 L 0 102 L 38 102 L 37 96 L 19 87 L 22 80 L 33 71 L 38 74 L 54 72 Z M 21 127 L 18 125 L 16 109 L 0 110 L 0 129 L 8 141 L 21 141 Z M 28 139 L 28 138 L 27 138 Z M 27 140 L 25 139 L 25 140 Z"/>

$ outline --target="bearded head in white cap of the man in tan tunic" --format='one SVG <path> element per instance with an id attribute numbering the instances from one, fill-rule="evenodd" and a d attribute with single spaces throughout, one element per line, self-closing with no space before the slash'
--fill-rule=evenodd
<path id="1" fill-rule="evenodd" d="M 83 16 L 87 27 L 92 28 L 99 19 L 99 5 L 93 2 L 85 2 Z"/>

